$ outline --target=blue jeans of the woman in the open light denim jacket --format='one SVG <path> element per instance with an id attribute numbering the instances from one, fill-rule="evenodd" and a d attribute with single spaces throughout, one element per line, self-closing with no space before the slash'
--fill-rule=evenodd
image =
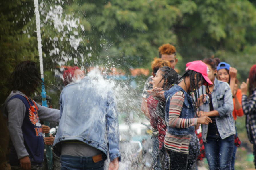
<path id="1" fill-rule="evenodd" d="M 234 135 L 225 139 L 220 136 L 208 135 L 204 143 L 206 159 L 210 170 L 230 170 L 234 149 Z"/>

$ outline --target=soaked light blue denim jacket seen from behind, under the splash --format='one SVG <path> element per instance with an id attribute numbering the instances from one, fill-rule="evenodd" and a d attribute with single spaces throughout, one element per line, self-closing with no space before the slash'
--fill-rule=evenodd
<path id="1" fill-rule="evenodd" d="M 94 83 L 92 83 L 94 81 Z M 79 140 L 101 150 L 112 161 L 119 157 L 119 124 L 113 95 L 97 80 L 84 78 L 60 94 L 60 123 L 54 144 Z"/>

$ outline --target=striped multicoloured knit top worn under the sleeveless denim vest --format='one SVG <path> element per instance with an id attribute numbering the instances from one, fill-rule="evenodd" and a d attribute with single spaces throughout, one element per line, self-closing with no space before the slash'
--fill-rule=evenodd
<path id="1" fill-rule="evenodd" d="M 197 123 L 197 118 L 180 118 L 184 98 L 184 93 L 178 91 L 170 99 L 168 126 L 171 128 L 188 128 L 195 126 Z M 190 139 L 191 135 L 173 135 L 166 132 L 164 147 L 176 152 L 188 154 Z"/>

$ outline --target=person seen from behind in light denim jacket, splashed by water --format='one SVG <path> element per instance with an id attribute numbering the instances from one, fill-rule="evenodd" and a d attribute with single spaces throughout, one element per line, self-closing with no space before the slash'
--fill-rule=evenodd
<path id="1" fill-rule="evenodd" d="M 75 70 L 76 71 L 76 70 Z M 53 146 L 61 145 L 64 169 L 117 170 L 120 161 L 119 124 L 113 94 L 97 78 L 82 76 L 60 94 L 60 123 Z"/>

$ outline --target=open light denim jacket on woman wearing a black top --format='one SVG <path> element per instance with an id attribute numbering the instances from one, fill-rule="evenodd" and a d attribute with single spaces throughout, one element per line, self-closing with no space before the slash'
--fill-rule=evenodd
<path id="1" fill-rule="evenodd" d="M 199 95 L 202 94 L 202 88 L 204 94 L 206 94 L 206 87 L 202 86 L 199 89 Z M 220 116 L 216 116 L 216 124 L 221 139 L 225 139 L 230 135 L 236 134 L 235 120 L 232 116 L 234 105 L 229 84 L 215 79 L 214 88 L 211 95 L 213 108 L 220 114 Z M 206 98 L 206 102 L 200 107 L 200 109 L 205 112 L 210 111 L 208 98 Z M 208 125 L 202 125 L 202 138 L 204 142 L 206 142 L 207 132 Z"/>

